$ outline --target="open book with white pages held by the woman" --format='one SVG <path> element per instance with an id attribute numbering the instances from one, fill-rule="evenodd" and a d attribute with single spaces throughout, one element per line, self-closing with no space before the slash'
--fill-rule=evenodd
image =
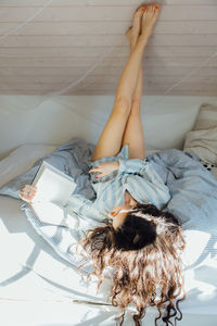
<path id="1" fill-rule="evenodd" d="M 71 227 L 75 224 L 72 218 L 72 225 L 66 222 L 67 202 L 77 186 L 72 177 L 43 161 L 31 185 L 37 192 L 30 205 L 41 222 Z"/>

